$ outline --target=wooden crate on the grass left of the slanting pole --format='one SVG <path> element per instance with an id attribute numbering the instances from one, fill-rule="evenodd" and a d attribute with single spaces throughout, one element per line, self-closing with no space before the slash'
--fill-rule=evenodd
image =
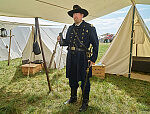
<path id="1" fill-rule="evenodd" d="M 28 75 L 28 73 L 34 75 L 35 73 L 42 70 L 42 64 L 24 64 L 21 67 L 22 67 L 22 73 L 24 75 Z"/>

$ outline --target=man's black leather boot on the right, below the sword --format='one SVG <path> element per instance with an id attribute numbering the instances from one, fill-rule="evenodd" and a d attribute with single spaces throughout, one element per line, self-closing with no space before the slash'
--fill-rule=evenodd
<path id="1" fill-rule="evenodd" d="M 79 112 L 86 111 L 88 109 L 89 94 L 85 94 L 82 100 L 82 106 L 79 108 Z"/>

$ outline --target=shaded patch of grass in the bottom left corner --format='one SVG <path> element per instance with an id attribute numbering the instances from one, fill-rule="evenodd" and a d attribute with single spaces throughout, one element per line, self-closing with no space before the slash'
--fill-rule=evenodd
<path id="1" fill-rule="evenodd" d="M 29 107 L 38 106 L 45 95 L 22 94 L 21 92 L 9 92 L 6 88 L 0 89 L 0 114 L 22 114 Z"/>

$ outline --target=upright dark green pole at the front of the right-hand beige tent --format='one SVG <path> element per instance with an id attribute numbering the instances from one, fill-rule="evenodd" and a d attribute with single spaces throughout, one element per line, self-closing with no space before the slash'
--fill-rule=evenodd
<path id="1" fill-rule="evenodd" d="M 130 78 L 130 76 L 131 76 L 131 59 L 132 59 L 133 32 L 134 32 L 134 15 L 135 15 L 135 5 L 133 6 L 132 32 L 131 32 L 131 43 L 130 43 L 130 59 L 129 59 L 129 74 L 128 74 L 128 78 Z"/>

